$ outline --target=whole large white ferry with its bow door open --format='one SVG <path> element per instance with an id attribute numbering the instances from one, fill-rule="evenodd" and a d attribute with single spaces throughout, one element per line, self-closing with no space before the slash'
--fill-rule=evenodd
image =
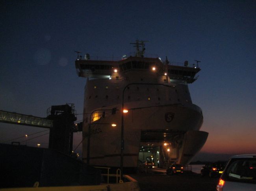
<path id="1" fill-rule="evenodd" d="M 108 167 L 136 168 L 146 160 L 160 167 L 188 164 L 208 136 L 188 89 L 199 61 L 163 62 L 145 54 L 145 41 L 131 44 L 135 53 L 120 60 L 78 52 L 77 73 L 87 79 L 82 159 Z"/>

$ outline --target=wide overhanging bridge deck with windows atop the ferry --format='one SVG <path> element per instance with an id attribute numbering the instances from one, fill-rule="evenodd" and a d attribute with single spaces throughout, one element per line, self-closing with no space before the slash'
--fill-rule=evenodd
<path id="1" fill-rule="evenodd" d="M 104 59 L 104 60 L 103 60 Z M 193 83 L 197 80 L 198 76 L 195 75 L 200 71 L 198 63 L 189 64 L 187 61 L 184 63 L 165 62 L 161 58 L 148 58 L 129 56 L 117 61 L 117 58 L 92 58 L 92 59 L 77 59 L 75 61 L 78 76 L 85 78 L 102 78 L 111 79 L 117 71 L 123 74 L 128 74 L 130 71 L 151 71 L 156 70 L 159 76 L 164 76 L 163 81 L 181 80 L 187 83 Z"/>

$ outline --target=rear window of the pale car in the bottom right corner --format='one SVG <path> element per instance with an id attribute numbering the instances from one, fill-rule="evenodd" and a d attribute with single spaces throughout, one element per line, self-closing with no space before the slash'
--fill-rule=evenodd
<path id="1" fill-rule="evenodd" d="M 256 158 L 233 158 L 223 178 L 228 181 L 256 184 Z"/>

